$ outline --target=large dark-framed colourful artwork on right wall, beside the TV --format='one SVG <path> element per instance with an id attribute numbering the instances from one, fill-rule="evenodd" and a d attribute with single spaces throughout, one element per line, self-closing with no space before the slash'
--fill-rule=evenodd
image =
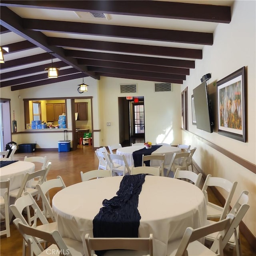
<path id="1" fill-rule="evenodd" d="M 245 67 L 217 82 L 218 134 L 246 142 Z"/>

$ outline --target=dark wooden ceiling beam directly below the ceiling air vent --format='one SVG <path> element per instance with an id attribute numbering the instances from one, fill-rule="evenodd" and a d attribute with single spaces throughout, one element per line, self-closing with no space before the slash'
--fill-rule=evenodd
<path id="1" fill-rule="evenodd" d="M 213 34 L 205 32 L 36 19 L 23 19 L 23 26 L 28 30 L 41 32 L 66 32 L 187 44 L 213 44 Z"/>

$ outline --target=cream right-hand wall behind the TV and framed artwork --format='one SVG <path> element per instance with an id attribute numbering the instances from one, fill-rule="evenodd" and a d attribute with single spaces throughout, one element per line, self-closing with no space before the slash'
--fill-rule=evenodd
<path id="1" fill-rule="evenodd" d="M 213 82 L 221 80 L 243 66 L 246 67 L 247 142 L 244 143 L 222 136 L 216 132 L 216 129 L 213 133 L 198 130 L 196 126 L 192 125 L 191 108 L 189 109 L 188 128 L 190 132 L 197 134 L 253 164 L 256 163 L 255 10 L 255 1 L 234 2 L 232 8 L 232 21 L 230 24 L 218 25 L 214 32 L 213 46 L 204 47 L 203 59 L 196 61 L 195 69 L 190 72 L 190 76 L 188 76 L 188 79 L 182 86 L 182 90 L 188 86 L 188 106 L 191 106 L 193 89 L 200 84 L 200 78 L 204 74 L 212 74 L 212 78 L 210 79 L 210 84 L 212 86 Z M 214 114 L 217 115 L 217 113 Z M 215 127 L 217 126 L 218 124 L 215 124 Z M 183 142 L 186 142 L 186 144 L 192 145 L 192 148 L 197 147 L 193 158 L 205 174 L 223 177 L 232 182 L 238 181 L 234 198 L 237 198 L 242 190 L 248 190 L 250 192 L 250 209 L 246 213 L 243 221 L 252 234 L 256 236 L 256 175 L 220 152 L 214 150 L 201 140 L 198 140 L 193 134 L 182 132 L 182 140 Z M 232 204 L 234 203 L 234 200 L 232 201 Z"/>

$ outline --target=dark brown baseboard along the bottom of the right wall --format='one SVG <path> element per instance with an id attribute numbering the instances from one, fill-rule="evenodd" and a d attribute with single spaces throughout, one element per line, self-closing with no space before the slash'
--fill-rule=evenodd
<path id="1" fill-rule="evenodd" d="M 193 161 L 194 166 L 196 167 L 196 169 L 198 170 L 198 172 L 202 173 L 202 177 L 206 178 L 206 174 L 202 171 L 202 169 Z M 220 203 L 222 204 L 222 206 L 224 206 L 225 204 L 225 199 L 222 196 L 222 194 L 220 194 L 220 192 L 215 188 L 212 187 L 212 192 L 214 193 L 214 195 L 216 196 L 216 198 L 220 201 Z M 250 246 L 252 246 L 252 248 L 256 251 L 256 237 L 254 236 L 254 234 L 252 234 L 252 232 L 249 230 L 249 228 L 244 224 L 244 222 L 241 222 L 239 225 L 239 230 L 240 232 L 244 235 L 244 237 L 246 238 L 246 240 L 248 241 L 248 243 L 250 244 Z"/>

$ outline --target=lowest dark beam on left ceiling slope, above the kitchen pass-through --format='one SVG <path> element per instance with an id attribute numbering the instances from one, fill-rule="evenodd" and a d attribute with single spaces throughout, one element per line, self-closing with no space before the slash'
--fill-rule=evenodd
<path id="1" fill-rule="evenodd" d="M 82 77 L 86 77 L 86 76 L 80 72 L 80 73 L 69 75 L 69 76 L 59 76 L 58 78 L 48 78 L 46 80 L 40 80 L 40 81 L 30 82 L 30 83 L 26 83 L 26 84 L 14 85 L 14 86 L 11 86 L 11 90 L 12 91 L 22 90 L 22 89 L 32 88 L 32 87 L 46 85 L 46 84 L 54 84 L 54 83 L 58 83 L 58 82 L 64 82 L 64 81 L 68 81 L 68 80 L 72 80 L 72 79 L 76 79 L 76 78 L 82 78 Z M 74 90 L 77 90 L 77 87 L 74 87 Z"/>

